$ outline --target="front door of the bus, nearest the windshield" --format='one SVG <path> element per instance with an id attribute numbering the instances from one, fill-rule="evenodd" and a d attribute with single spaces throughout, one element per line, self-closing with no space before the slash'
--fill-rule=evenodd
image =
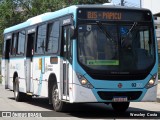
<path id="1" fill-rule="evenodd" d="M 72 80 L 72 72 L 70 71 L 70 26 L 63 27 L 63 100 L 69 100 L 69 83 Z"/>

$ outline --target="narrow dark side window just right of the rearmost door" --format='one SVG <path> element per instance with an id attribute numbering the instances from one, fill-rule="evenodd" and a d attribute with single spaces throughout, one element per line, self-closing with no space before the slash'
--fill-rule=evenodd
<path id="1" fill-rule="evenodd" d="M 12 47 L 11 47 L 11 55 L 15 56 L 16 52 L 17 52 L 17 38 L 18 38 L 18 34 L 15 33 L 13 34 L 13 38 L 12 38 Z"/>

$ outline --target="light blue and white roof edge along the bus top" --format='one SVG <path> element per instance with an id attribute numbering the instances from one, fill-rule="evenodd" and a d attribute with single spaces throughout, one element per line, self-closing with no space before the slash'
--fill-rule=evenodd
<path id="1" fill-rule="evenodd" d="M 16 31 L 25 27 L 29 27 L 31 25 L 35 25 L 40 22 L 45 22 L 50 19 L 54 19 L 56 17 L 63 16 L 65 14 L 73 13 L 76 14 L 77 8 L 117 8 L 117 9 L 133 9 L 133 10 L 147 10 L 147 9 L 140 9 L 140 8 L 129 8 L 129 7 L 121 7 L 121 6 L 114 6 L 114 5 L 73 5 L 67 8 L 60 9 L 55 12 L 47 12 L 32 18 L 29 18 L 27 21 L 20 23 L 18 25 L 6 28 L 3 34 L 10 33 L 12 31 Z"/>

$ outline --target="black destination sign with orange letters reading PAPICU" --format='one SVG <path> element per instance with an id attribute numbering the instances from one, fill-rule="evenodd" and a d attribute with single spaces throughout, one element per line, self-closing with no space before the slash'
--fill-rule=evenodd
<path id="1" fill-rule="evenodd" d="M 152 15 L 147 10 L 81 8 L 78 20 L 151 21 Z"/>

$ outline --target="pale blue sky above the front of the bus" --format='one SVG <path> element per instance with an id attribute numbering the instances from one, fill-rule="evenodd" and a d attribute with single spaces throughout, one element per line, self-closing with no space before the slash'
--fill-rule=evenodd
<path id="1" fill-rule="evenodd" d="M 140 0 L 124 0 L 125 5 L 132 6 L 132 7 L 140 7 Z M 121 3 L 121 0 L 112 0 L 112 3 L 118 5 Z"/>

